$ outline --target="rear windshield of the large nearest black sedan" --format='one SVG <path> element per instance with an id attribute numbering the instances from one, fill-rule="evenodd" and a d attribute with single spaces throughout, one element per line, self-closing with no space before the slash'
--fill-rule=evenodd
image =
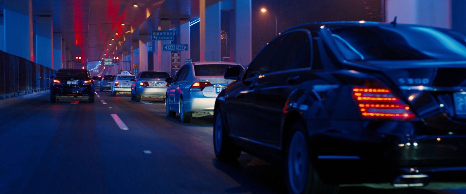
<path id="1" fill-rule="evenodd" d="M 331 28 L 348 60 L 466 60 L 466 37 L 424 26 L 351 26 Z"/>

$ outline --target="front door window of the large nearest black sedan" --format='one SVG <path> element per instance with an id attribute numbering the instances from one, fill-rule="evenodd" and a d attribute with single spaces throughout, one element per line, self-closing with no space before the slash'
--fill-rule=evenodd
<path id="1" fill-rule="evenodd" d="M 248 66 L 243 78 L 246 79 L 268 73 L 274 61 L 275 54 L 284 38 L 285 35 L 274 39 L 268 44 Z"/>

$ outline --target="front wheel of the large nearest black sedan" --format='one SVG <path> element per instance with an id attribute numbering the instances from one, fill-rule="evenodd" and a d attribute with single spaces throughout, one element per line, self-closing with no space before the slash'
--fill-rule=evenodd
<path id="1" fill-rule="evenodd" d="M 222 161 L 238 159 L 241 150 L 228 138 L 222 111 L 220 109 L 216 110 L 213 118 L 213 149 L 215 156 Z"/>

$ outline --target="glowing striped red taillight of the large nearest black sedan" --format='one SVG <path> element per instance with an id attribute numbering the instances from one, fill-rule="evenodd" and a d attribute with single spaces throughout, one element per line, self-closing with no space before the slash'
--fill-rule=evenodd
<path id="1" fill-rule="evenodd" d="M 365 118 L 411 119 L 410 107 L 385 88 L 353 88 L 353 98 Z"/>

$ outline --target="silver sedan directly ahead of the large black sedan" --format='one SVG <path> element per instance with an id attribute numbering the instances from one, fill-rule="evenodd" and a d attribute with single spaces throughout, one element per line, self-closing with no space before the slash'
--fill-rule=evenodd
<path id="1" fill-rule="evenodd" d="M 167 116 L 178 112 L 183 123 L 193 117 L 213 115 L 215 98 L 233 79 L 225 79 L 226 68 L 237 66 L 231 62 L 193 62 L 181 67 L 166 91 Z M 242 67 L 242 66 L 241 66 Z M 244 68 L 242 68 L 244 69 Z"/>

